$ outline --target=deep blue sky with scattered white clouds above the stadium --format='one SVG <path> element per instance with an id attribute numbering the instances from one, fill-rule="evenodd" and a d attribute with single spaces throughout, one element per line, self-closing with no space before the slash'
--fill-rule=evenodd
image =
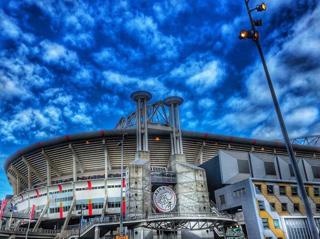
<path id="1" fill-rule="evenodd" d="M 320 4 L 272 0 L 261 38 L 292 137 L 320 132 Z M 256 1 L 251 1 L 255 6 Z M 281 138 L 244 2 L 1 1 L 0 162 L 37 141 L 113 128 L 129 95 L 185 99 L 184 129 Z M 3 169 L 1 181 L 5 180 Z M 7 183 L 0 196 L 10 192 Z"/>

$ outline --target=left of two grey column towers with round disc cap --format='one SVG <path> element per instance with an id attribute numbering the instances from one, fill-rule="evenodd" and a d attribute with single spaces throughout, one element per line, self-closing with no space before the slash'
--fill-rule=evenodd
<path id="1" fill-rule="evenodd" d="M 137 152 L 148 151 L 148 112 L 147 102 L 151 99 L 147 91 L 136 91 L 131 94 L 136 104 Z"/>

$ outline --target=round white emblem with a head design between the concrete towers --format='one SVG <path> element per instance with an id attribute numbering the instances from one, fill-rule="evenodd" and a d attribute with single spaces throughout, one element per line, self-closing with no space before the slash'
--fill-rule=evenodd
<path id="1" fill-rule="evenodd" d="M 153 193 L 153 203 L 160 212 L 171 212 L 176 202 L 176 194 L 170 187 L 158 187 Z"/>

